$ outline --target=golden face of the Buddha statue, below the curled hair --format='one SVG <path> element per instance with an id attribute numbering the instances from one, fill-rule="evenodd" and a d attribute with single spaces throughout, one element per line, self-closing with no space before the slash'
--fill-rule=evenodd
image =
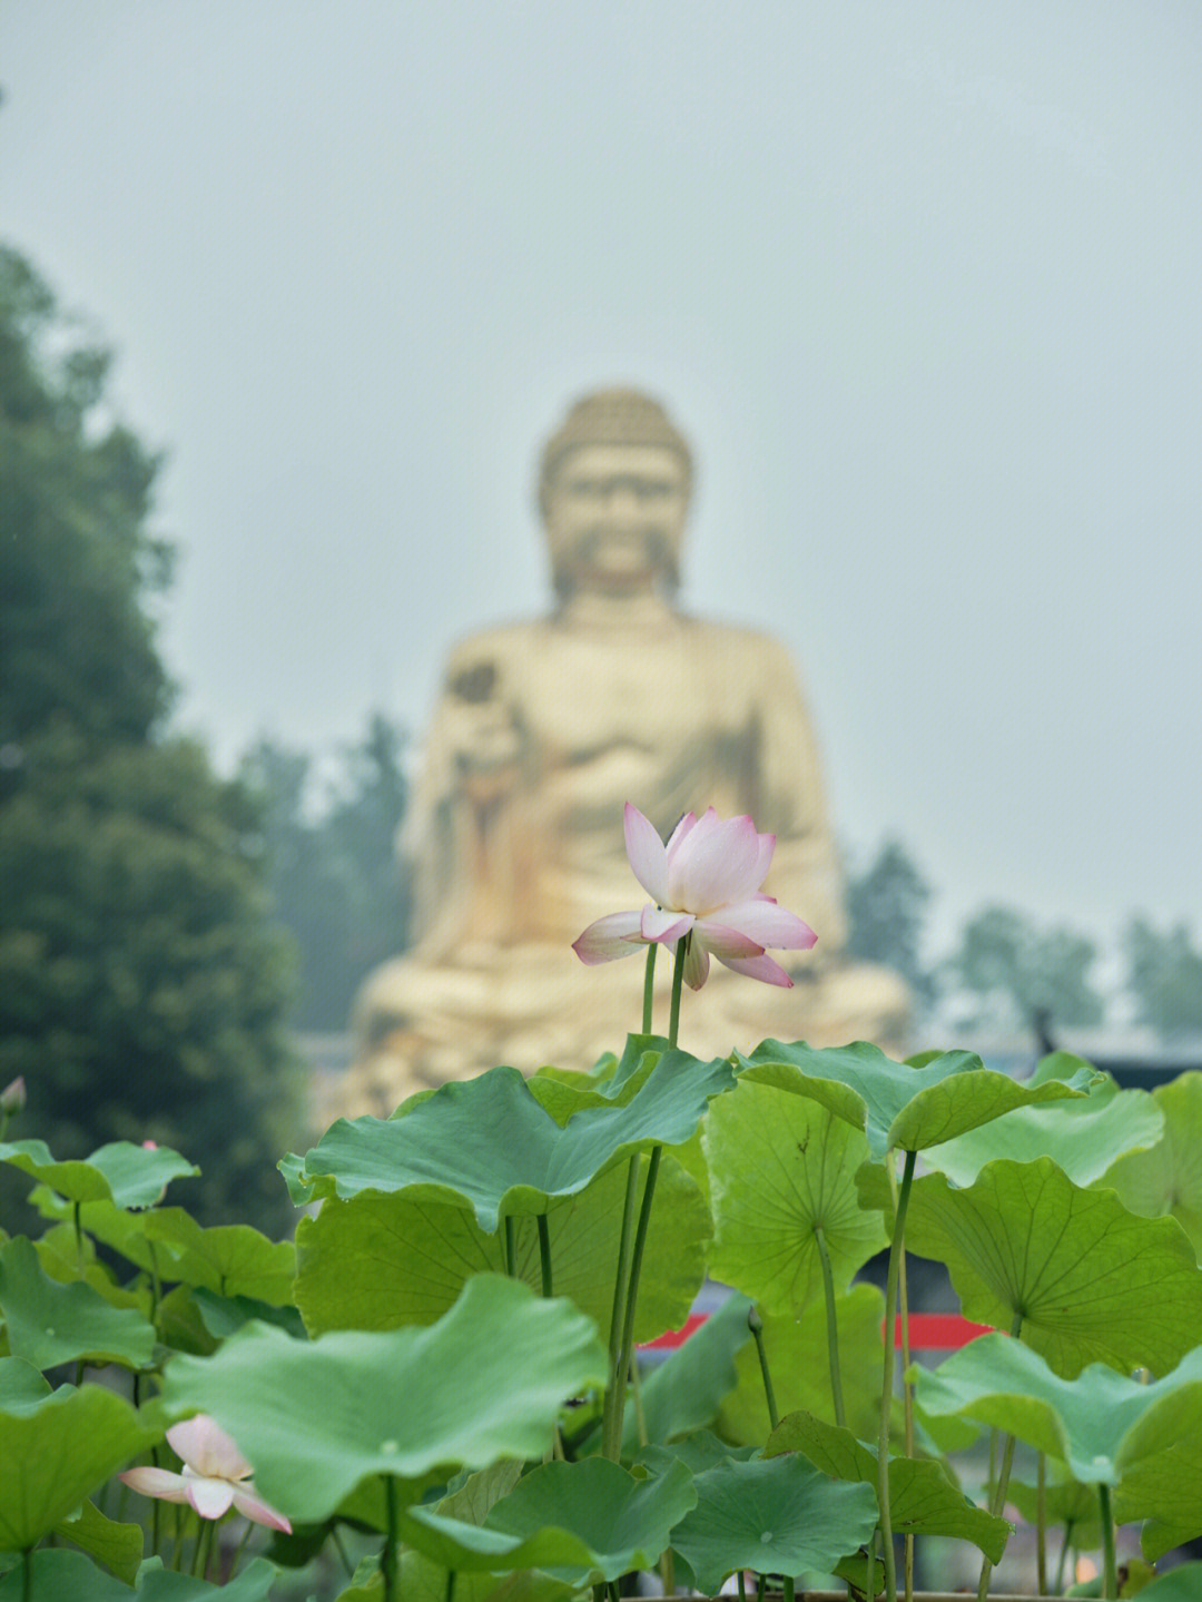
<path id="1" fill-rule="evenodd" d="M 663 445 L 581 445 L 547 485 L 555 570 L 576 591 L 629 594 L 671 583 L 688 482 Z"/>

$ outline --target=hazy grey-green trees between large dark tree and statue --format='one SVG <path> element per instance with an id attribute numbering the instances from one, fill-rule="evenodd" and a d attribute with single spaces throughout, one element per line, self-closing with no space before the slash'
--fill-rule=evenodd
<path id="1" fill-rule="evenodd" d="M 408 889 L 395 862 L 408 795 L 403 743 L 375 713 L 323 796 L 312 795 L 303 753 L 261 740 L 243 759 L 242 777 L 266 817 L 272 912 L 298 953 L 298 1028 L 346 1028 L 365 976 L 405 945 Z"/>

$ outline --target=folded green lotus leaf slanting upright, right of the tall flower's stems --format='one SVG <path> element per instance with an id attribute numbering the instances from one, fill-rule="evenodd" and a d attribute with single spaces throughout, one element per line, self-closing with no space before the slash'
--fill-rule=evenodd
<path id="1" fill-rule="evenodd" d="M 738 1384 L 735 1358 L 751 1341 L 751 1306 L 746 1296 L 735 1291 L 643 1379 L 643 1423 L 650 1442 L 672 1440 L 712 1424 L 719 1416 L 719 1408 Z M 637 1448 L 637 1410 L 634 1397 L 627 1395 L 623 1451 L 631 1456 Z"/>

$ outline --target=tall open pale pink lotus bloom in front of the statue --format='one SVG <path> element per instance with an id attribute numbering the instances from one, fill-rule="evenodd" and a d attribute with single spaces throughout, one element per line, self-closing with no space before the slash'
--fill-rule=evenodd
<path id="1" fill-rule="evenodd" d="M 664 844 L 629 801 L 624 825 L 626 855 L 651 904 L 591 923 L 571 947 L 583 963 L 611 963 L 651 942 L 675 952 L 688 937 L 685 984 L 693 990 L 706 982 L 711 953 L 736 974 L 792 985 L 765 947 L 803 952 L 818 936 L 760 891 L 775 835 L 759 835 L 749 817 L 723 822 L 709 807 L 701 817 L 685 812 Z"/>

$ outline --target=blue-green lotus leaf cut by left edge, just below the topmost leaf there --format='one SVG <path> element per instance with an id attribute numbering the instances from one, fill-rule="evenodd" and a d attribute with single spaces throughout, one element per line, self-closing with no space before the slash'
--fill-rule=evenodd
<path id="1" fill-rule="evenodd" d="M 35 1368 L 77 1360 L 149 1368 L 154 1362 L 154 1325 L 131 1307 L 110 1307 L 90 1285 L 48 1278 L 24 1235 L 0 1250 L 0 1310 L 13 1357 Z"/>

